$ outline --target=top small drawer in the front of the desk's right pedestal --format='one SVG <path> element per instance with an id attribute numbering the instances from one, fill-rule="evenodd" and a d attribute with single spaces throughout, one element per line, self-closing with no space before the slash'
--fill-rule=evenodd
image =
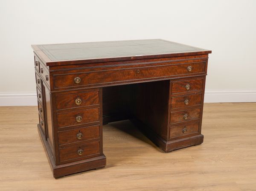
<path id="1" fill-rule="evenodd" d="M 203 78 L 172 82 L 172 94 L 202 90 Z"/>

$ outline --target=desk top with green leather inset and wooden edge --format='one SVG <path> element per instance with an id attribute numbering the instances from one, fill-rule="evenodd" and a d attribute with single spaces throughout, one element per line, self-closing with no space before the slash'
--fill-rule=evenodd
<path id="1" fill-rule="evenodd" d="M 208 54 L 211 51 L 162 39 L 32 45 L 48 66 L 70 61 L 119 61 Z M 106 60 L 107 59 L 107 60 Z M 79 64 L 72 63 L 72 64 Z"/>

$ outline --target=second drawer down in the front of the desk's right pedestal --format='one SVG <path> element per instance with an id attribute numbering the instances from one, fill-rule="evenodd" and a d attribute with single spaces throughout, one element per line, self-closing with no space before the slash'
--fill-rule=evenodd
<path id="1" fill-rule="evenodd" d="M 182 107 L 190 107 L 201 104 L 202 94 L 193 94 L 186 96 L 177 96 L 172 97 L 172 109 L 182 108 Z"/>

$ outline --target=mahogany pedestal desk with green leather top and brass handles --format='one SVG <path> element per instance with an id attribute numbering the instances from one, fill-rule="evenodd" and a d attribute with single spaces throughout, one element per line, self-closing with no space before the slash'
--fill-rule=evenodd
<path id="1" fill-rule="evenodd" d="M 105 167 L 108 122 L 132 119 L 165 152 L 203 142 L 211 51 L 160 39 L 32 48 L 38 132 L 55 178 Z"/>

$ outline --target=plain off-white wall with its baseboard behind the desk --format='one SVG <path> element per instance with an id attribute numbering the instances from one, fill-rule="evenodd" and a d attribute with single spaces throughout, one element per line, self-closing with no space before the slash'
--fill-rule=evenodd
<path id="1" fill-rule="evenodd" d="M 212 50 L 207 102 L 256 101 L 255 9 L 255 0 L 0 0 L 0 105 L 36 104 L 31 44 L 149 38 Z"/>

